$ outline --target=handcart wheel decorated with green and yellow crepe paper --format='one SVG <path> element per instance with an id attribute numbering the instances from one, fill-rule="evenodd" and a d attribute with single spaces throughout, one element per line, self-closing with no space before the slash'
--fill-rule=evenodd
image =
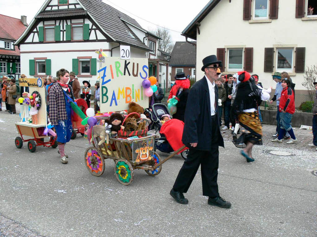
<path id="1" fill-rule="evenodd" d="M 123 185 L 129 185 L 133 181 L 133 168 L 127 160 L 120 159 L 116 162 L 114 174 Z"/>

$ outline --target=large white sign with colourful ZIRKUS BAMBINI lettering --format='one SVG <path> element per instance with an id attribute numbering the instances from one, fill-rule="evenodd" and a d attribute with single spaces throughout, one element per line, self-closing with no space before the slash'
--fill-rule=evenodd
<path id="1" fill-rule="evenodd" d="M 147 58 L 122 60 L 107 57 L 98 71 L 100 76 L 100 112 L 128 109 L 131 101 L 143 108 L 149 107 L 142 81 L 148 78 Z"/>

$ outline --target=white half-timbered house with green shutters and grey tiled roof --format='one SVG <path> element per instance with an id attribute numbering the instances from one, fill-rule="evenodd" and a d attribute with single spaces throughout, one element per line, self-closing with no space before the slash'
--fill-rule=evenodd
<path id="1" fill-rule="evenodd" d="M 120 57 L 120 45 L 130 46 L 133 58 L 149 58 L 150 76 L 165 81 L 169 66 L 158 53 L 159 39 L 100 0 L 46 0 L 15 44 L 27 76 L 55 76 L 65 68 L 74 71 L 80 82 L 93 85 L 99 70 L 95 51 Z M 164 75 L 156 70 L 159 65 L 166 70 Z"/>

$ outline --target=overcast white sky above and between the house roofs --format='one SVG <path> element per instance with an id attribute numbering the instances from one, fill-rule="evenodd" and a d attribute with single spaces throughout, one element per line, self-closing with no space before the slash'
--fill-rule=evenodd
<path id="1" fill-rule="evenodd" d="M 157 24 L 159 26 L 178 31 L 170 31 L 173 41 L 185 41 L 185 37 L 180 35 L 181 32 L 209 2 L 209 0 L 196 0 L 194 2 L 186 2 L 183 0 L 102 1 L 131 16 L 136 21 L 138 21 L 144 29 L 154 30 L 157 27 L 154 24 Z M 44 2 L 45 0 L 0 0 L 0 14 L 15 18 L 21 18 L 21 15 L 26 15 L 27 22 L 29 24 Z M 156 6 L 156 4 L 159 5 Z M 121 7 L 125 10 L 123 10 Z M 146 21 L 140 19 L 139 17 L 145 19 Z M 147 21 L 154 24 L 151 24 Z"/>

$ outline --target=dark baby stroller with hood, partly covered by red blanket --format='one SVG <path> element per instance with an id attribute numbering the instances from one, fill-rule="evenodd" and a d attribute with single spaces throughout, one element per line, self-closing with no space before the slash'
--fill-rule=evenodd
<path id="1" fill-rule="evenodd" d="M 149 114 L 148 118 L 151 119 L 151 124 L 149 125 L 149 130 L 155 129 L 155 134 L 160 131 L 162 124 L 161 124 L 161 117 L 164 114 L 170 114 L 167 106 L 165 104 L 156 103 L 152 105 L 152 111 L 146 110 Z M 155 147 L 161 152 L 171 153 L 174 152 L 171 145 L 168 143 L 164 134 L 160 133 L 160 137 L 155 139 Z M 188 149 L 184 150 L 180 153 L 184 160 L 187 158 Z"/>

